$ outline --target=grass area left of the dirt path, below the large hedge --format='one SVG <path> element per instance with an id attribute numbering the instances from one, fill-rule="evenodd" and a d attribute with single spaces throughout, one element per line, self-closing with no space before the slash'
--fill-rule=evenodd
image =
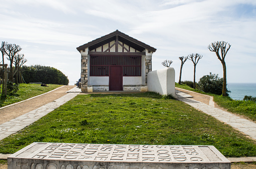
<path id="1" fill-rule="evenodd" d="M 49 87 L 41 86 L 41 84 L 25 84 L 21 83 L 16 95 L 7 95 L 7 97 L 1 97 L 0 94 L 0 107 L 19 102 L 36 95 L 45 93 L 47 91 L 53 90 L 62 85 L 59 84 L 47 84 Z M 1 88 L 2 89 L 2 88 Z M 2 90 L 1 90 L 2 91 Z"/>

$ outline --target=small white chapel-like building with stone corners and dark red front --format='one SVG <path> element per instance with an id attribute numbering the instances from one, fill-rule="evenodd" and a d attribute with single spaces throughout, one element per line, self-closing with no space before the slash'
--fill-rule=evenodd
<path id="1" fill-rule="evenodd" d="M 81 53 L 81 91 L 147 91 L 147 73 L 156 51 L 121 31 L 76 48 Z"/>

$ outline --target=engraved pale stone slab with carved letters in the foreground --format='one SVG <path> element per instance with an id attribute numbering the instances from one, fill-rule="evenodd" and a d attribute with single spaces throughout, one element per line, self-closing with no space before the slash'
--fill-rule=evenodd
<path id="1" fill-rule="evenodd" d="M 224 169 L 230 167 L 230 161 L 211 145 L 34 142 L 8 157 L 9 169 Z"/>

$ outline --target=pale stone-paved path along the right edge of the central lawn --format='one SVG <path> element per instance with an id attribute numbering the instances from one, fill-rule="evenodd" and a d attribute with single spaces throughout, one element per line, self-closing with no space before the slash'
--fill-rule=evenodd
<path id="1" fill-rule="evenodd" d="M 193 98 L 177 98 L 256 139 L 256 123 Z"/>

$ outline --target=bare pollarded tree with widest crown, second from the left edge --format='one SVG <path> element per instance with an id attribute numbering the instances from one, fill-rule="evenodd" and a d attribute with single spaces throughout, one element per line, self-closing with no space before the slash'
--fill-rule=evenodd
<path id="1" fill-rule="evenodd" d="M 13 61 L 14 61 L 14 56 L 16 53 L 21 51 L 21 47 L 16 44 L 7 44 L 7 50 L 6 50 L 6 55 L 8 55 L 7 59 L 10 60 L 10 76 L 9 76 L 9 81 L 13 82 Z"/>

